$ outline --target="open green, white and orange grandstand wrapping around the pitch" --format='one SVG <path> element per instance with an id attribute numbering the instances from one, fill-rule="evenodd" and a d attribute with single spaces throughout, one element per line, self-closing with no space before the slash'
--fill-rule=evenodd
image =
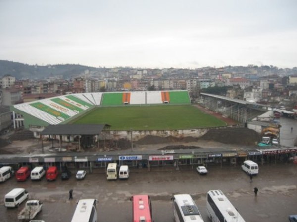
<path id="1" fill-rule="evenodd" d="M 61 95 L 57 97 L 17 104 L 13 111 L 14 126 L 48 126 L 65 124 L 96 107 L 190 104 L 187 90 L 96 92 Z"/>

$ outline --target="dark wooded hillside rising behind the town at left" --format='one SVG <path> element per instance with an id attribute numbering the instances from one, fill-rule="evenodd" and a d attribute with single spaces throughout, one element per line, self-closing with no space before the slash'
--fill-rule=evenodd
<path id="1" fill-rule="evenodd" d="M 45 79 L 56 75 L 63 75 L 67 79 L 83 73 L 86 69 L 89 71 L 99 70 L 99 68 L 76 64 L 38 66 L 0 60 L 0 77 L 12 75 L 17 79 Z"/>

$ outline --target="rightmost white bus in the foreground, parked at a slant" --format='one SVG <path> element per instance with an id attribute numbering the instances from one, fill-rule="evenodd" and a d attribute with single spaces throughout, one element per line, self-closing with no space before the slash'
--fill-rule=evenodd
<path id="1" fill-rule="evenodd" d="M 245 222 L 221 190 L 207 192 L 206 211 L 212 222 Z"/>

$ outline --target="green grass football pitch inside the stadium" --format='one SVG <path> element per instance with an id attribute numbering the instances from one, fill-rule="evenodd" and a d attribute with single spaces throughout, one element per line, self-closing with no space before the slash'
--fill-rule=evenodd
<path id="1" fill-rule="evenodd" d="M 225 126 L 191 105 L 100 107 L 73 124 L 108 124 L 110 130 L 178 130 Z"/>

